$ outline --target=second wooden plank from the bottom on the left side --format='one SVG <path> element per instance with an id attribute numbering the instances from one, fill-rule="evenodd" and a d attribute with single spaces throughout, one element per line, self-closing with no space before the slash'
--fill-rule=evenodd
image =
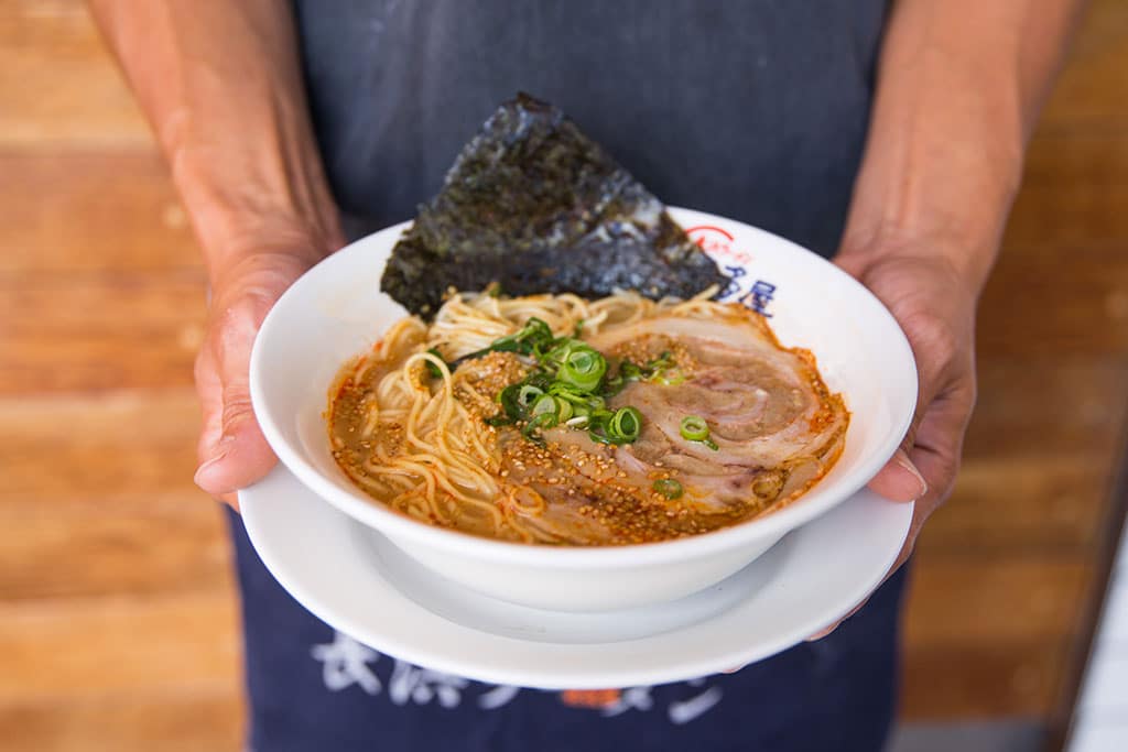
<path id="1" fill-rule="evenodd" d="M 0 707 L 238 685 L 230 593 L 0 604 Z"/>

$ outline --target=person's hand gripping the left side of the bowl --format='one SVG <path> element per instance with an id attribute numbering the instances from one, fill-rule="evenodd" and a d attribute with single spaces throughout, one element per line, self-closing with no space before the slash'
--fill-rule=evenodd
<path id="1" fill-rule="evenodd" d="M 335 241 L 334 241 L 335 242 Z M 206 333 L 195 380 L 203 408 L 196 485 L 237 507 L 236 492 L 265 476 L 276 459 L 250 408 L 250 348 L 258 327 L 294 280 L 340 244 L 287 239 L 239 254 L 213 276 Z"/>

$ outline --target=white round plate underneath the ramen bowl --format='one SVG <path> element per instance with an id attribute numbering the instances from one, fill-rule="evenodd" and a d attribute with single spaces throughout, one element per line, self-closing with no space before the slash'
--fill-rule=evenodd
<path id="1" fill-rule="evenodd" d="M 337 630 L 430 669 L 541 689 L 682 681 L 774 655 L 865 598 L 913 516 L 911 504 L 862 490 L 703 592 L 584 614 L 514 605 L 443 580 L 281 465 L 241 490 L 239 504 L 266 568 Z"/>

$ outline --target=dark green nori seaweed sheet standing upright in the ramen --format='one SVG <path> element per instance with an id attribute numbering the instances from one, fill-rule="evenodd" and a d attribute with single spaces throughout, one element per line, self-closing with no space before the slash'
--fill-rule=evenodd
<path id="1" fill-rule="evenodd" d="M 662 203 L 556 107 L 503 104 L 396 245 L 381 289 L 430 317 L 455 290 L 635 290 L 688 298 L 726 277 Z"/>

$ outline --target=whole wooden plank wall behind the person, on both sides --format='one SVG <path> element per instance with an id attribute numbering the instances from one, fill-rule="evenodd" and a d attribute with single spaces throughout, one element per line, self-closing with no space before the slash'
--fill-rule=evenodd
<path id="1" fill-rule="evenodd" d="M 78 0 L 0 1 L 0 749 L 235 752 L 229 552 L 191 480 L 191 230 Z M 964 471 L 914 573 L 907 719 L 1049 717 L 1103 586 L 1128 416 L 1122 0 L 1094 3 L 1033 140 L 979 353 Z"/>

